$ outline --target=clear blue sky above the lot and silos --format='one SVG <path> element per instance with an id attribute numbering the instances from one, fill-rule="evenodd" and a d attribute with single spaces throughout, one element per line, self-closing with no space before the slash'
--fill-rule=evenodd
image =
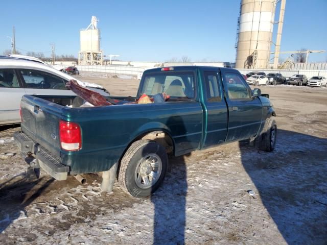
<path id="1" fill-rule="evenodd" d="M 119 54 L 121 60 L 163 62 L 189 56 L 192 61 L 234 62 L 239 8 L 240 0 L 3 0 L 0 53 L 10 48 L 7 36 L 15 26 L 16 47 L 22 53 L 50 56 L 54 42 L 57 55 L 77 57 L 79 30 L 95 15 L 101 49 Z M 326 11 L 327 0 L 287 0 L 281 51 L 327 50 Z M 327 53 L 310 55 L 309 62 L 319 61 L 327 62 Z"/>

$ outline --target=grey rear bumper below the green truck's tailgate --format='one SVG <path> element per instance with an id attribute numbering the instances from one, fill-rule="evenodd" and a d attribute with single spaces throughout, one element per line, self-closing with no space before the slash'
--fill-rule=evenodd
<path id="1" fill-rule="evenodd" d="M 14 133 L 14 140 L 24 157 L 34 154 L 36 158 L 36 165 L 41 167 L 44 171 L 46 171 L 46 173 L 51 175 L 56 180 L 67 179 L 69 167 L 61 164 L 61 159 L 59 157 L 43 148 L 22 132 Z"/>

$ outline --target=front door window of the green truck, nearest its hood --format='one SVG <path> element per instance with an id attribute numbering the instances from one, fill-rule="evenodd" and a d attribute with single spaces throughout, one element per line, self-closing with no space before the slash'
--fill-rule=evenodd
<path id="1" fill-rule="evenodd" d="M 223 80 L 229 100 L 251 98 L 249 86 L 242 81 L 240 75 L 236 73 L 225 73 L 223 75 Z"/>

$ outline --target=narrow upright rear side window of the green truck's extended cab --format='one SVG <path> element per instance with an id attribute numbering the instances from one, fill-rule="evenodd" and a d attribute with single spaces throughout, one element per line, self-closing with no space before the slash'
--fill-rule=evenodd
<path id="1" fill-rule="evenodd" d="M 221 90 L 220 90 L 217 72 L 204 71 L 204 80 L 205 80 L 207 101 L 220 102 L 222 96 L 221 96 Z"/>

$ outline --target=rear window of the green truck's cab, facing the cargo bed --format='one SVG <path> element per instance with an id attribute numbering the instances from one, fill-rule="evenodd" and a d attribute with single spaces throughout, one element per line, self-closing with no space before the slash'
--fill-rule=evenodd
<path id="1" fill-rule="evenodd" d="M 171 97 L 192 99 L 194 93 L 193 72 L 165 72 L 149 74 L 144 78 L 141 94 L 166 93 Z"/>

